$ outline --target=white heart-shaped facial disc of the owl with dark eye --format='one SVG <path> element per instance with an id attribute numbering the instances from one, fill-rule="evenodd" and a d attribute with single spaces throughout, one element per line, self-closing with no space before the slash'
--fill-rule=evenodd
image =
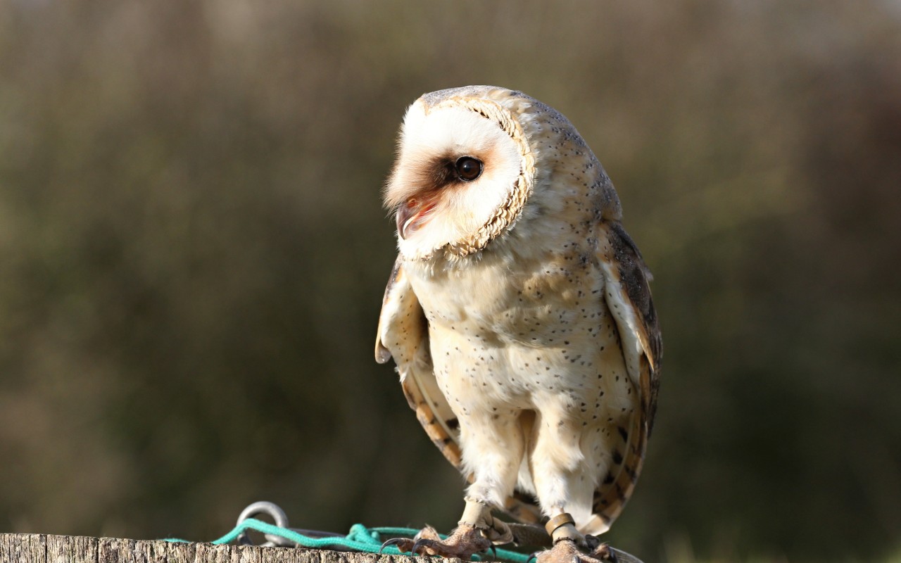
<path id="1" fill-rule="evenodd" d="M 504 105 L 484 96 L 447 95 L 437 103 L 428 96 L 405 114 L 385 204 L 395 210 L 406 258 L 465 256 L 522 212 L 534 159 Z"/>

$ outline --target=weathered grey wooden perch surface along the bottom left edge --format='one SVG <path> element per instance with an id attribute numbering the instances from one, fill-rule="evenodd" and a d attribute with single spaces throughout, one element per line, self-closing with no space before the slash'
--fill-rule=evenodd
<path id="1" fill-rule="evenodd" d="M 324 549 L 0 533 L 6 563 L 426 563 L 429 558 Z M 460 563 L 460 559 L 443 559 Z"/>

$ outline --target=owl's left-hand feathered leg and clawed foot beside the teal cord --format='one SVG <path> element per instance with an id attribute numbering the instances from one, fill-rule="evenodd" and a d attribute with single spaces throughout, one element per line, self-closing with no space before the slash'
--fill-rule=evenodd
<path id="1" fill-rule="evenodd" d="M 518 414 L 460 416 L 463 463 L 473 475 L 460 522 L 446 540 L 427 527 L 413 540 L 388 540 L 385 545 L 419 555 L 469 559 L 495 544 L 511 542 L 513 534 L 505 522 L 492 516 L 491 507 L 502 505 L 516 485 L 524 449 Z"/>

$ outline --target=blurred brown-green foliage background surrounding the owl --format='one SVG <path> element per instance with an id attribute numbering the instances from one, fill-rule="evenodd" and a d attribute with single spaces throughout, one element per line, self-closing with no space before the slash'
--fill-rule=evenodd
<path id="1" fill-rule="evenodd" d="M 372 347 L 407 104 L 566 114 L 656 276 L 656 432 L 608 540 L 901 558 L 901 3 L 0 4 L 0 530 L 448 530 Z"/>

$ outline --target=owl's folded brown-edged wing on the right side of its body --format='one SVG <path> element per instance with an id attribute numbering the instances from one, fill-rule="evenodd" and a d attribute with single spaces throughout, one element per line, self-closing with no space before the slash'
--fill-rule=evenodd
<path id="1" fill-rule="evenodd" d="M 588 526 L 591 533 L 601 533 L 609 528 L 632 495 L 642 471 L 645 447 L 657 410 L 663 352 L 648 283 L 651 272 L 619 222 L 600 225 L 597 259 L 605 277 L 605 302 L 614 316 L 626 369 L 641 401 L 637 412 L 633 413 L 631 428 L 620 429 L 622 450 L 614 452 L 614 463 L 595 492 L 595 518 Z"/>

